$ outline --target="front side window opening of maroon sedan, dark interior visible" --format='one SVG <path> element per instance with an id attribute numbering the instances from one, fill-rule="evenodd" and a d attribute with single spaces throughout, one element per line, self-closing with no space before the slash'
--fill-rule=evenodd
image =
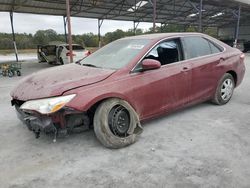
<path id="1" fill-rule="evenodd" d="M 158 44 L 144 59 L 158 60 L 161 65 L 171 64 L 182 60 L 180 40 L 172 39 Z"/>

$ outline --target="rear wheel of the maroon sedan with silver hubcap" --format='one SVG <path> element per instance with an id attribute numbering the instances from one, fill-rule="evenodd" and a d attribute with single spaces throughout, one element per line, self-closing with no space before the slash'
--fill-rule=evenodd
<path id="1" fill-rule="evenodd" d="M 226 73 L 222 76 L 216 88 L 216 93 L 212 100 L 217 105 L 224 105 L 230 101 L 235 87 L 235 81 L 231 74 Z"/>

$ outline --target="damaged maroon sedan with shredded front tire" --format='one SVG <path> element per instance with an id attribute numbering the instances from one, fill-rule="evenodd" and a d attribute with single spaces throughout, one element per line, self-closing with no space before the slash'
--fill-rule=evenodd
<path id="1" fill-rule="evenodd" d="M 93 126 L 103 145 L 120 148 L 135 142 L 142 120 L 208 100 L 226 104 L 244 73 L 244 54 L 210 36 L 141 35 L 26 77 L 12 105 L 36 137 Z"/>

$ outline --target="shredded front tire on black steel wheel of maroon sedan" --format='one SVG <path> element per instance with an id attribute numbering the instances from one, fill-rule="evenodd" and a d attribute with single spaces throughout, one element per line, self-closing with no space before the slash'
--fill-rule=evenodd
<path id="1" fill-rule="evenodd" d="M 113 98 L 96 109 L 94 131 L 104 146 L 118 149 L 133 144 L 142 133 L 142 127 L 135 110 L 126 101 Z"/>

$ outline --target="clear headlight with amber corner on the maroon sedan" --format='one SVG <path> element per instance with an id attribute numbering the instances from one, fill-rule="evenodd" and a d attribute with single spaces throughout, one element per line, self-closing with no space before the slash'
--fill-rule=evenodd
<path id="1" fill-rule="evenodd" d="M 47 99 L 30 100 L 25 102 L 20 109 L 34 110 L 41 114 L 50 114 L 60 110 L 69 101 L 71 101 L 76 94 L 66 95 L 61 97 L 52 97 Z"/>

